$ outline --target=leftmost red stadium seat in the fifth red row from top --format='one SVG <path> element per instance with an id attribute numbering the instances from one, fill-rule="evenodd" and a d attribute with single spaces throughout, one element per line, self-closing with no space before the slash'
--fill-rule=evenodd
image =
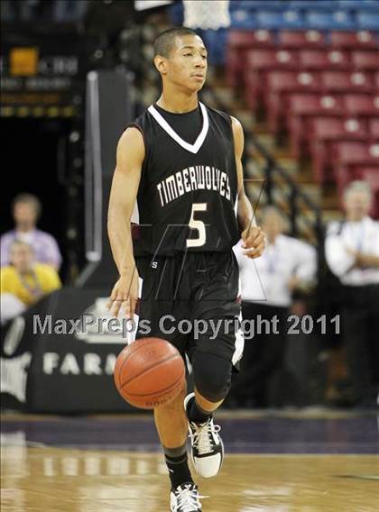
<path id="1" fill-rule="evenodd" d="M 330 142 L 336 141 L 362 141 L 368 139 L 367 125 L 365 121 L 357 119 L 343 119 L 341 117 L 319 117 L 309 123 L 310 130 L 310 155 L 314 176 L 319 183 L 332 177 L 332 169 L 328 168 L 328 155 Z"/>

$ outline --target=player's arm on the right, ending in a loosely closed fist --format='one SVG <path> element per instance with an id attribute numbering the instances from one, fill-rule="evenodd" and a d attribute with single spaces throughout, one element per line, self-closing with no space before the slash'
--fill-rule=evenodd
<path id="1" fill-rule="evenodd" d="M 241 123 L 232 117 L 232 130 L 235 142 L 236 172 L 238 187 L 237 215 L 241 228 L 242 247 L 248 258 L 258 258 L 264 250 L 264 233 L 255 223 L 253 207 L 245 194 L 244 170 L 242 168 L 242 154 L 244 152 L 244 131 Z"/>

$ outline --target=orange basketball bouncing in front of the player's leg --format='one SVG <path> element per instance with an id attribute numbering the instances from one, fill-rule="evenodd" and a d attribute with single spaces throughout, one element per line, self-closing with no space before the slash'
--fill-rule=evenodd
<path id="1" fill-rule="evenodd" d="M 186 377 L 184 361 L 171 343 L 143 338 L 118 354 L 115 382 L 118 392 L 135 407 L 153 409 L 178 397 Z"/>

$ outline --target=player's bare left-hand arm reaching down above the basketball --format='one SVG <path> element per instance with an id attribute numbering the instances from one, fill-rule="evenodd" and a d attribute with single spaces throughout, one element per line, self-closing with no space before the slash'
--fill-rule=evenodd
<path id="1" fill-rule="evenodd" d="M 108 236 L 120 275 L 109 299 L 108 308 L 117 316 L 122 305 L 126 316 L 133 318 L 138 300 L 138 273 L 134 262 L 131 219 L 141 179 L 144 159 L 142 133 L 128 128 L 122 134 L 116 152 L 108 207 Z"/>

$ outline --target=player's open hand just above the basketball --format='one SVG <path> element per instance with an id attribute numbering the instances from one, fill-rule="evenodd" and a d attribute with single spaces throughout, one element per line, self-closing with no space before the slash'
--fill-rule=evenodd
<path id="1" fill-rule="evenodd" d="M 123 307 L 126 318 L 133 319 L 137 302 L 138 271 L 134 268 L 133 272 L 123 274 L 116 281 L 106 307 L 116 318 Z"/>

